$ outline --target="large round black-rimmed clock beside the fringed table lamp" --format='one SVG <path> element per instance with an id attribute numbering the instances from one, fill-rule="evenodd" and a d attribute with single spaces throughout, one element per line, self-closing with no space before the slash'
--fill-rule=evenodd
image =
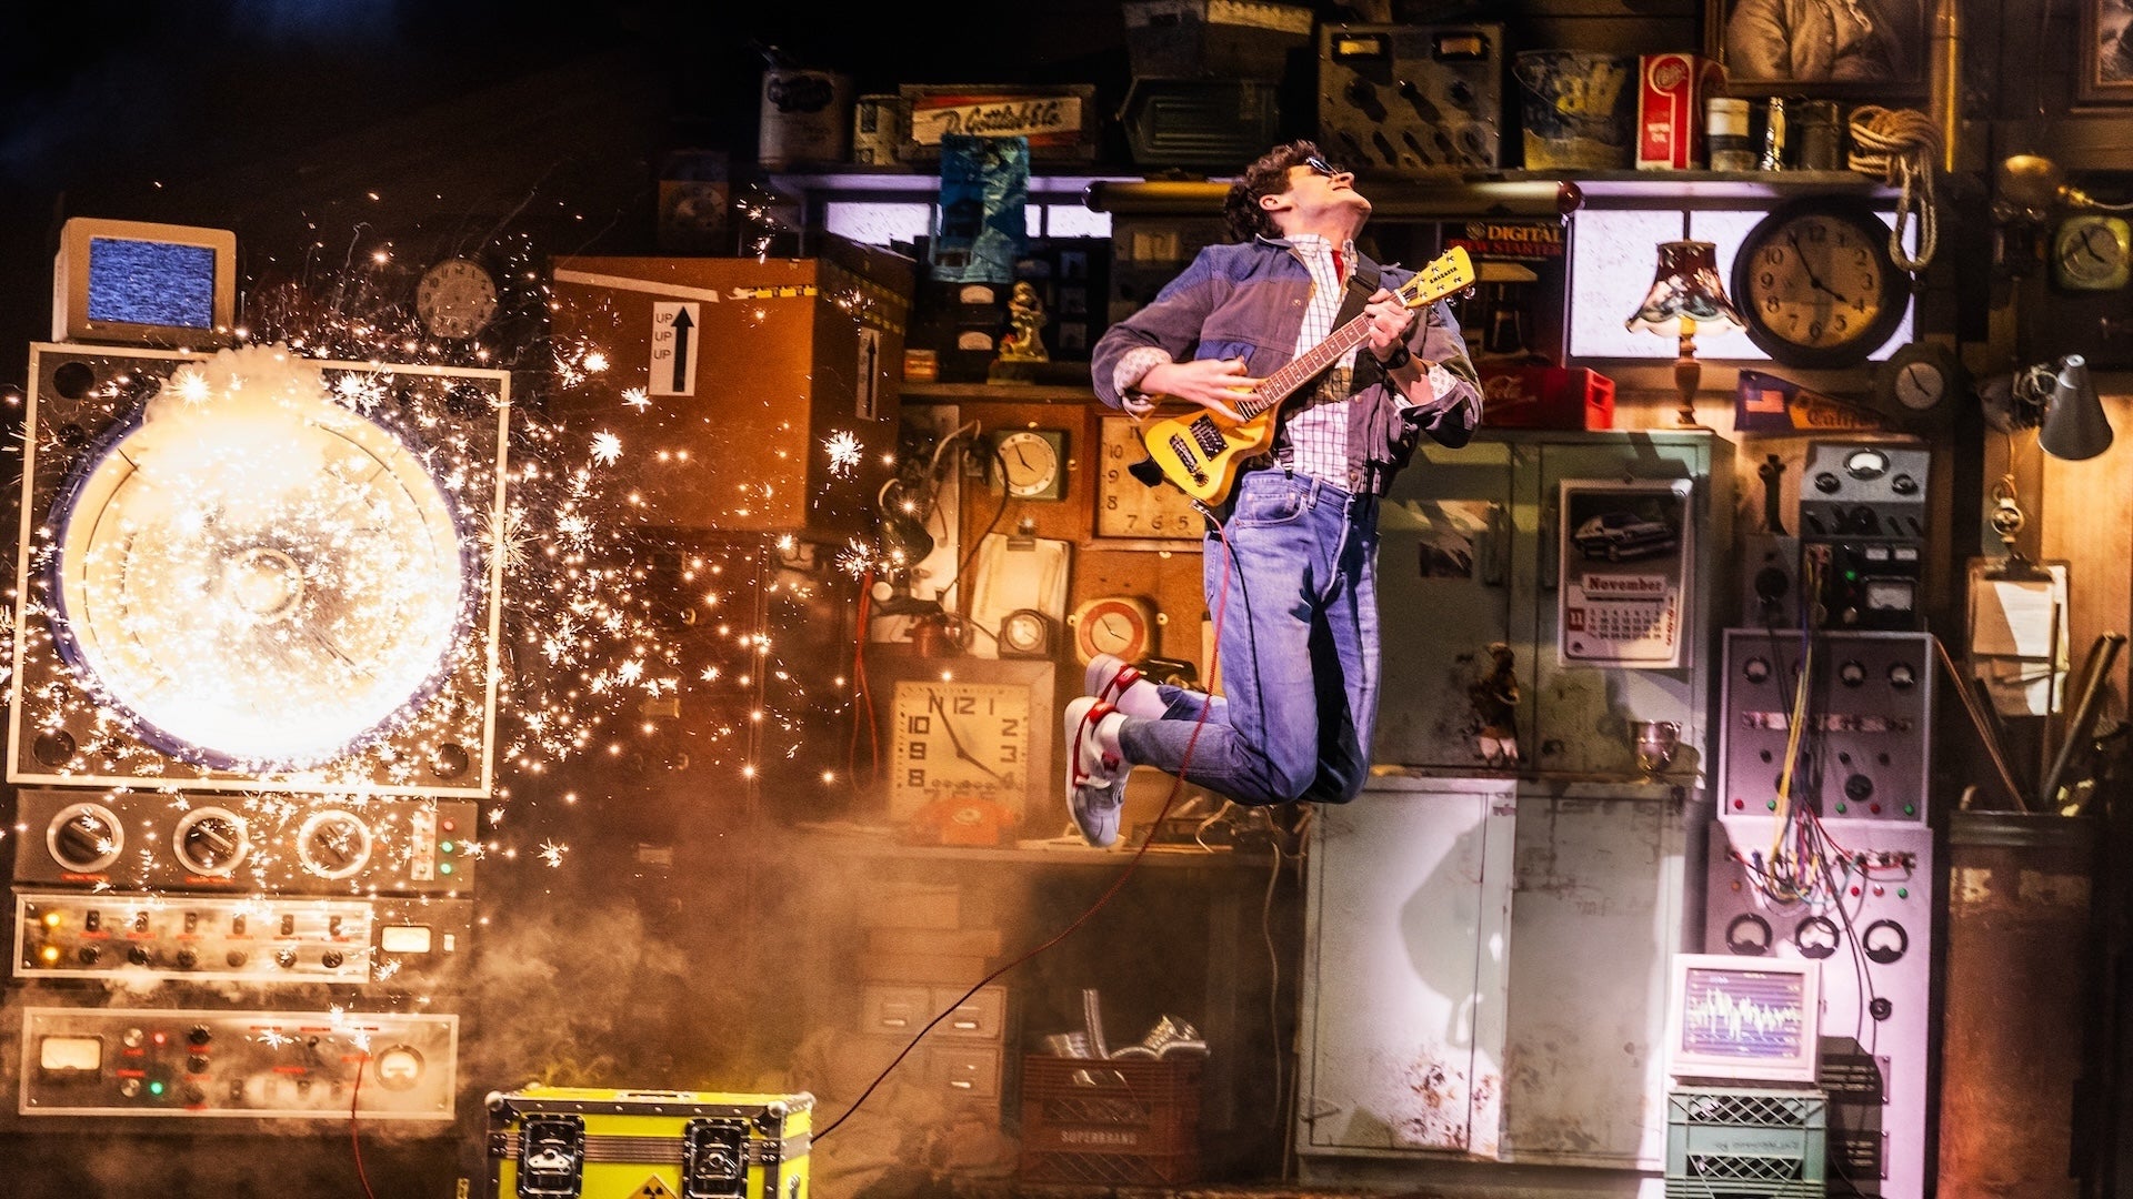
<path id="1" fill-rule="evenodd" d="M 1787 367 L 1856 367 L 1911 307 L 1888 224 L 1851 196 L 1787 201 L 1734 254 L 1732 301 L 1747 335 Z"/>

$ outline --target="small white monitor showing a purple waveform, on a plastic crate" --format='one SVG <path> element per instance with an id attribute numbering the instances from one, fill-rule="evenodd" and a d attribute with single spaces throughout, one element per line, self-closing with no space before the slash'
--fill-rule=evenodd
<path id="1" fill-rule="evenodd" d="M 1679 1080 L 1815 1082 L 1822 962 L 1677 954 L 1666 1009 Z"/>

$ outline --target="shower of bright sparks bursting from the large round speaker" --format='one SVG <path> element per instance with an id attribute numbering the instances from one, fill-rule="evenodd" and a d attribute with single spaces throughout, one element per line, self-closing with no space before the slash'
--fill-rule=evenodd
<path id="1" fill-rule="evenodd" d="M 742 205 L 742 215 L 757 254 L 789 233 L 768 207 Z M 843 755 L 851 710 L 849 689 L 830 678 L 851 657 L 851 644 L 836 644 L 849 629 L 838 627 L 830 604 L 845 578 L 879 570 L 883 553 L 866 538 L 817 548 L 793 538 L 759 535 L 761 514 L 772 510 L 772 501 L 793 503 L 785 493 L 796 467 L 779 459 L 798 454 L 783 446 L 738 452 L 717 446 L 706 439 L 717 431 L 706 435 L 687 405 L 676 407 L 680 397 L 648 395 L 642 337 L 629 333 L 606 346 L 602 337 L 616 333 L 602 329 L 619 324 L 565 320 L 567 303 L 548 282 L 550 254 L 531 237 L 499 235 L 482 247 L 506 282 L 503 307 L 488 331 L 459 341 L 429 335 L 403 299 L 405 241 L 386 254 L 369 237 L 356 233 L 346 243 L 346 256 L 343 245 L 326 250 L 331 239 L 320 239 L 314 252 L 341 260 L 339 269 L 322 267 L 307 254 L 284 260 L 258 247 L 254 273 L 260 277 L 247 279 L 247 311 L 237 348 L 224 352 L 230 354 L 226 369 L 213 358 L 141 358 L 73 401 L 68 420 L 41 412 L 43 420 L 30 431 L 38 437 L 36 495 L 47 506 L 28 516 L 34 523 L 28 561 L 36 582 L 11 595 L 21 608 L 23 644 L 21 661 L 15 661 L 13 638 L 0 638 L 0 683 L 21 674 L 17 719 L 26 738 L 77 747 L 75 757 L 53 774 L 94 774 L 113 792 L 154 792 L 171 811 L 222 804 L 258 828 L 301 821 L 331 802 L 378 834 L 375 853 L 388 868 L 405 868 L 414 841 L 405 821 L 424 804 L 407 794 L 435 783 L 429 764 L 437 747 L 478 755 L 486 745 L 497 781 L 518 783 L 497 787 L 482 800 L 484 830 L 459 832 L 469 858 L 497 866 L 535 856 L 550 868 L 561 866 L 567 853 L 561 841 L 540 841 L 531 849 L 542 826 L 529 817 L 542 804 L 567 806 L 580 796 L 589 809 L 646 802 L 680 781 L 704 796 L 753 794 L 757 770 L 770 770 L 757 764 L 772 762 L 796 762 L 800 770 L 785 777 L 804 777 L 811 787 L 828 789 L 843 774 L 823 770 L 823 760 Z M 832 301 L 847 309 L 870 303 L 862 292 L 838 292 Z M 749 329 L 774 320 L 770 303 L 747 309 Z M 638 337 L 638 343 L 627 337 Z M 309 367 L 320 361 L 348 367 Z M 45 580 L 58 565 L 66 523 L 53 506 L 62 495 L 62 474 L 81 459 L 75 442 L 81 429 L 117 427 L 156 397 L 171 401 L 175 412 L 207 420 L 245 405 L 284 405 L 290 375 L 311 380 L 311 390 L 301 397 L 305 418 L 375 429 L 380 452 L 405 454 L 418 465 L 418 476 L 433 482 L 442 499 L 424 535 L 442 546 L 439 561 L 456 561 L 463 570 L 463 593 L 454 621 L 448 621 L 452 640 L 442 659 L 407 685 L 405 700 L 373 730 L 354 736 L 341 757 L 294 764 L 271 753 L 237 755 L 239 762 L 226 770 L 254 779 L 230 787 L 241 796 L 188 796 L 169 783 L 194 781 L 209 766 L 183 760 L 190 747 L 173 749 L 169 738 L 149 736 L 156 730 L 143 728 L 143 713 L 128 702 L 130 696 L 113 691 L 107 681 L 77 676 L 55 644 L 60 595 Z M 508 422 L 497 446 L 506 378 Z M 19 397 L 11 405 L 19 407 Z M 619 418 L 619 410 L 629 416 Z M 599 429 L 608 420 L 629 422 L 616 425 L 629 435 L 627 448 L 621 435 Z M 834 431 L 823 439 L 830 478 L 849 480 L 870 461 L 889 461 L 892 446 L 868 444 L 866 437 L 864 431 Z M 13 452 L 21 450 L 17 442 Z M 275 459 L 269 452 L 247 461 Z M 211 465 L 201 467 L 203 478 L 213 478 Z M 410 625 L 388 619 L 382 604 L 363 610 L 358 625 L 350 617 L 356 610 L 350 608 L 352 597 L 335 593 L 346 572 L 333 570 L 348 546 L 365 538 L 388 540 L 386 531 L 403 527 L 405 512 L 371 501 L 363 491 L 367 478 L 350 469 L 288 463 L 292 474 L 305 467 L 320 471 L 320 495 L 292 489 L 296 499 L 286 518 L 252 525 L 256 546 L 213 540 L 226 508 L 169 514 L 173 535 L 198 540 L 198 561 L 177 561 L 166 572 L 173 593 L 213 582 L 241 600 L 239 608 L 252 617 L 250 632 L 260 646 L 256 657 L 188 640 L 186 661 L 222 657 L 232 664 L 224 676 L 228 687 L 250 685 L 269 693 L 271 687 L 247 678 L 239 664 L 303 653 L 318 653 L 318 661 L 350 657 L 352 664 L 331 666 L 356 676 L 360 668 L 375 666 L 369 655 L 373 644 Z M 230 478 L 215 484 L 222 489 L 218 497 L 232 503 L 245 499 L 254 474 L 239 469 L 250 467 L 226 471 Z M 655 471 L 702 476 L 706 510 L 655 510 L 646 499 L 646 478 Z M 708 499 L 712 495 L 725 497 L 725 512 L 717 510 L 721 501 Z M 350 503 L 333 503 L 350 497 Z M 247 570 L 230 570 L 232 561 Z M 390 561 L 380 559 L 371 570 L 380 587 L 392 578 Z M 220 576 L 213 574 L 218 563 Z M 124 557 L 111 563 L 113 570 L 126 565 Z M 501 574 L 501 591 L 493 591 L 491 567 Z M 192 595 L 209 591 L 192 587 Z M 288 617 L 284 602 L 290 604 Z M 209 604 L 173 606 L 173 612 L 188 608 L 205 610 Z M 171 625 L 156 632 L 166 638 L 181 632 L 186 638 L 207 636 L 173 632 Z M 228 634 L 226 627 L 222 632 Z M 32 659 L 38 664 L 34 670 Z M 488 687 L 495 691 L 493 721 L 484 721 L 482 710 Z M 335 687 L 318 691 L 337 693 Z M 288 700 L 292 708 L 309 702 L 307 696 Z M 823 740 L 825 732 L 830 740 Z M 659 774 L 672 768 L 661 764 L 683 760 L 689 764 L 687 779 Z M 469 772 L 456 783 L 471 785 L 476 777 Z M 292 798 L 277 787 L 305 796 Z M 341 787 L 348 792 L 341 794 Z M 407 794 L 380 796 L 371 792 L 375 787 Z M 514 834 L 493 836 L 506 815 Z M 38 836 L 17 841 L 34 845 Z M 128 838 L 109 879 L 96 888 L 147 890 L 143 879 L 156 868 L 156 856 L 166 851 L 166 845 L 143 847 L 139 838 Z M 292 853 L 256 843 L 235 881 L 273 892 L 277 879 L 301 870 L 288 860 Z M 373 877 L 356 875 L 348 894 L 367 894 L 373 883 Z M 279 1033 L 264 1030 L 260 1037 Z"/>

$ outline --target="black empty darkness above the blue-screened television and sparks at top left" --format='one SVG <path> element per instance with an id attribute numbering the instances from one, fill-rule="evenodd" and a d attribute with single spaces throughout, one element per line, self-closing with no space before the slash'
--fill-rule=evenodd
<path id="1" fill-rule="evenodd" d="M 648 252 L 672 149 L 755 158 L 766 47 L 898 83 L 1126 85 L 1120 4 L 83 4 L 0 73 L 0 382 L 49 337 L 70 215 L 232 228 L 241 288 L 392 241 Z M 375 196 L 373 196 L 375 192 Z M 243 303 L 243 294 L 239 297 Z"/>

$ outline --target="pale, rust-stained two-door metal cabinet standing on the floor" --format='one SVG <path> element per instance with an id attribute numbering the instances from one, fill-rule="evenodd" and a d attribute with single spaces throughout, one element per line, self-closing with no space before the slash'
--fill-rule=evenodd
<path id="1" fill-rule="evenodd" d="M 1380 774 L 1312 826 L 1305 1178 L 1491 1158 L 1653 1171 L 1702 804 L 1664 783 Z"/>

